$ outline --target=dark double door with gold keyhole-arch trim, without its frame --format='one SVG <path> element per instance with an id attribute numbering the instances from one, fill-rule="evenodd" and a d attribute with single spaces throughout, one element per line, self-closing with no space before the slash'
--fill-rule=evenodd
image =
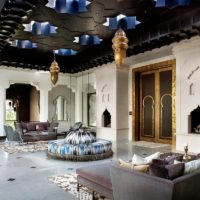
<path id="1" fill-rule="evenodd" d="M 172 143 L 172 67 L 137 73 L 138 140 Z"/>

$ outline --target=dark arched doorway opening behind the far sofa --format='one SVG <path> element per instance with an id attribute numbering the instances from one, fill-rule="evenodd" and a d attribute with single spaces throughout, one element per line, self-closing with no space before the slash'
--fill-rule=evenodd
<path id="1" fill-rule="evenodd" d="M 6 89 L 6 124 L 39 121 L 40 94 L 30 84 L 12 84 Z M 12 114 L 11 114 L 12 113 Z"/>

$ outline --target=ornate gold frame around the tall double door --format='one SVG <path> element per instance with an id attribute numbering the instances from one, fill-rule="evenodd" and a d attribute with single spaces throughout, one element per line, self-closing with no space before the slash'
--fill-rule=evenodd
<path id="1" fill-rule="evenodd" d="M 172 146 L 176 145 L 176 61 L 168 60 L 147 66 L 142 66 L 132 69 L 132 138 L 137 140 L 139 133 L 136 133 L 136 123 L 138 123 L 138 116 L 136 113 L 136 73 L 153 71 L 158 69 L 172 68 Z"/>

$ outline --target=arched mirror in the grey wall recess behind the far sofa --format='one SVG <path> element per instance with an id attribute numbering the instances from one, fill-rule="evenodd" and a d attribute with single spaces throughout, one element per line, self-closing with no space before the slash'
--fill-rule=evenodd
<path id="1" fill-rule="evenodd" d="M 68 121 L 67 99 L 64 96 L 58 96 L 53 103 L 55 105 L 54 120 Z"/>

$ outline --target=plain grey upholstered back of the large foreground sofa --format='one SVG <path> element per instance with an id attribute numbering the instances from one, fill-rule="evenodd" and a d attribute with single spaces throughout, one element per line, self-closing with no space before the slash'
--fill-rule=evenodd
<path id="1" fill-rule="evenodd" d="M 200 200 L 200 170 L 174 180 L 117 165 L 110 173 L 114 200 Z"/>

